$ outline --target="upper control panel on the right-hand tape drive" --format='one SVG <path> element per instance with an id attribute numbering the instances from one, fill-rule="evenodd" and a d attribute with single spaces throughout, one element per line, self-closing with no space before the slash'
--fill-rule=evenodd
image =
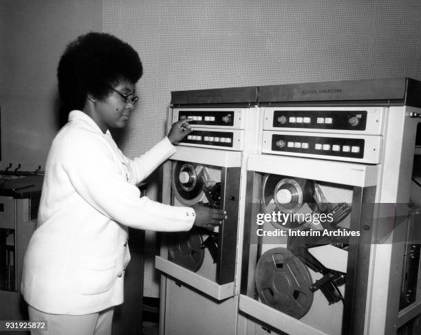
<path id="1" fill-rule="evenodd" d="M 384 107 L 268 107 L 263 129 L 380 135 Z"/>

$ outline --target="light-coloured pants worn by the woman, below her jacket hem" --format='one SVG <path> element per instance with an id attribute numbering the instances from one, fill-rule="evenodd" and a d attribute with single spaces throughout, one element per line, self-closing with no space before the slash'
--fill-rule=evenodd
<path id="1" fill-rule="evenodd" d="M 47 321 L 45 329 L 32 329 L 31 335 L 111 335 L 114 307 L 85 315 L 48 314 L 28 306 L 30 321 Z"/>

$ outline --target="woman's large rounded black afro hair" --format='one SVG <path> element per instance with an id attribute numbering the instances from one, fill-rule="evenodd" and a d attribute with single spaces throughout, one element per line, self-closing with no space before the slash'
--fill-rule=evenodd
<path id="1" fill-rule="evenodd" d="M 116 36 L 89 32 L 69 45 L 58 63 L 58 92 L 68 109 L 83 109 L 87 94 L 106 98 L 119 80 L 136 83 L 142 62 L 129 44 Z"/>

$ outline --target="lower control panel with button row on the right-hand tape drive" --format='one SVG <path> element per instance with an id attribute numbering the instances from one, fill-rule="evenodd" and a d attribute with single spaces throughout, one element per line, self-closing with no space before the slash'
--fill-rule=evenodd
<path id="1" fill-rule="evenodd" d="M 263 131 L 263 153 L 378 164 L 381 136 Z"/>

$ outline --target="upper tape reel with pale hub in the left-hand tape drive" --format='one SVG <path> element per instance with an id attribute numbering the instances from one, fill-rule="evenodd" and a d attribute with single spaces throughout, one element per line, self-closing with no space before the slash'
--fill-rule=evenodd
<path id="1" fill-rule="evenodd" d="M 196 173 L 197 165 L 188 162 L 175 162 L 171 176 L 171 186 L 175 197 L 182 204 L 192 206 L 204 198 L 204 183 Z"/>

